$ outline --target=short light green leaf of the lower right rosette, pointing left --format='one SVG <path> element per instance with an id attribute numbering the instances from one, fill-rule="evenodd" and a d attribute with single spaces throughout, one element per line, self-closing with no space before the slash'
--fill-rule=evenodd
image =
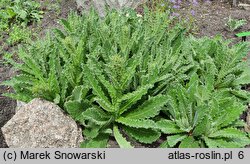
<path id="1" fill-rule="evenodd" d="M 160 120 L 160 121 L 156 122 L 156 126 L 159 130 L 162 131 L 162 133 L 165 133 L 165 134 L 175 134 L 175 133 L 185 132 L 185 131 L 181 130 L 175 124 L 175 122 L 173 122 L 171 120 Z"/>

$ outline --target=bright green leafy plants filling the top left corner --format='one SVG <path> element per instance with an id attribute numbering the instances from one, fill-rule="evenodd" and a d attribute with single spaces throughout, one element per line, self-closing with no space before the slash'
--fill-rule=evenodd
<path id="1" fill-rule="evenodd" d="M 28 26 L 42 19 L 43 11 L 37 1 L 3 0 L 0 2 L 0 34 L 1 42 L 5 42 L 7 48 L 19 43 L 28 43 L 34 32 Z M 11 50 L 12 51 L 12 48 Z M 1 51 L 1 55 L 6 52 Z"/>

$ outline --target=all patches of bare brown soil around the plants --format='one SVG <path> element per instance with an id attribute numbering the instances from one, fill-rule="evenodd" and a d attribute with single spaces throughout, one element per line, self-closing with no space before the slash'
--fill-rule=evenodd
<path id="1" fill-rule="evenodd" d="M 46 0 L 40 0 L 41 3 L 45 3 Z M 53 3 L 55 0 L 51 0 Z M 213 37 L 215 35 L 222 35 L 225 39 L 232 39 L 234 43 L 240 42 L 241 38 L 235 36 L 236 33 L 240 31 L 250 31 L 250 11 L 232 7 L 231 4 L 225 3 L 220 0 L 213 0 L 211 3 L 200 2 L 199 6 L 195 7 L 194 19 L 197 25 L 197 31 L 195 35 L 198 37 L 209 36 Z M 58 26 L 59 18 L 66 18 L 70 10 L 76 10 L 75 0 L 62 0 L 60 3 L 60 11 L 47 10 L 46 5 L 44 6 L 45 15 L 39 25 L 31 25 L 30 28 L 35 28 L 36 32 L 39 33 L 40 37 L 45 35 L 46 30 Z M 141 12 L 141 8 L 138 8 L 138 11 Z M 189 14 L 188 3 L 183 5 L 180 13 L 182 15 Z M 228 17 L 231 16 L 234 19 L 246 19 L 247 24 L 235 32 L 230 32 L 226 28 L 225 24 L 228 20 Z M 38 27 L 39 26 L 39 27 Z M 250 40 L 250 37 L 249 39 Z M 4 40 L 0 40 L 0 46 L 4 46 Z M 6 51 L 13 52 L 16 47 L 4 47 Z M 3 63 L 3 54 L 0 53 L 0 83 L 9 79 L 13 74 L 14 70 L 10 66 Z M 249 54 L 250 58 L 250 54 Z M 250 90 L 250 87 L 246 87 L 246 90 Z M 11 92 L 10 88 L 5 86 L 0 86 L 0 128 L 9 120 L 15 113 L 16 102 L 7 97 L 2 96 L 3 93 Z M 114 139 L 111 139 L 110 147 L 117 147 L 117 143 Z M 136 147 L 157 147 L 159 143 L 153 145 L 136 145 Z M 0 148 L 7 147 L 4 142 L 2 132 L 0 130 Z"/>

